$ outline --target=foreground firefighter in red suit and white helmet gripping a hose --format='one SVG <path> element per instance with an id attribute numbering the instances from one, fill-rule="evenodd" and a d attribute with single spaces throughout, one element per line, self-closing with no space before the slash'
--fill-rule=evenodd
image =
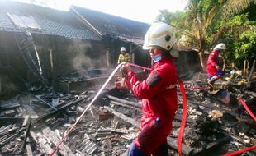
<path id="1" fill-rule="evenodd" d="M 129 156 L 168 155 L 167 136 L 178 108 L 177 72 L 172 61 L 178 57 L 178 48 L 171 31 L 169 25 L 159 22 L 145 34 L 143 49 L 149 50 L 154 61 L 146 80 L 138 80 L 128 64 L 121 67 L 127 86 L 143 103 L 141 131 L 130 145 Z"/>

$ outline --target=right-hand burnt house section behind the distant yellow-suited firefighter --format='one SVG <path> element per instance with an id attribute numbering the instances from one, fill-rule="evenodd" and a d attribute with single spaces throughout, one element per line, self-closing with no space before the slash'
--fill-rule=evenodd
<path id="1" fill-rule="evenodd" d="M 149 24 L 83 7 L 72 6 L 69 11 L 102 36 L 102 42 L 110 52 L 112 65 L 116 65 L 120 48 L 125 47 L 132 62 L 144 67 L 149 66 L 149 54 L 141 48 Z"/>

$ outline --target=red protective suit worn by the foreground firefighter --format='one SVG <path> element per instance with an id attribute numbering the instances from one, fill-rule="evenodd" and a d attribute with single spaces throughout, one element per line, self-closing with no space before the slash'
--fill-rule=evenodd
<path id="1" fill-rule="evenodd" d="M 142 99 L 141 129 L 143 130 L 149 122 L 160 118 L 161 125 L 156 140 L 146 140 L 143 151 L 150 153 L 154 145 L 161 145 L 172 130 L 172 120 L 178 108 L 177 102 L 177 72 L 171 58 L 163 58 L 152 67 L 149 77 L 140 81 L 133 71 L 128 72 L 128 80 L 133 94 Z M 135 145 L 140 148 L 140 143 L 135 140 Z"/>

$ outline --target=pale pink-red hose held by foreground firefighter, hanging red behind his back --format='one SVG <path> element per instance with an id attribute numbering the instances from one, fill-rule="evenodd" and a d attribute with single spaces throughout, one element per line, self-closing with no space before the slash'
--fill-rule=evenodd
<path id="1" fill-rule="evenodd" d="M 74 126 L 76 126 L 78 124 L 78 122 L 81 120 L 81 118 L 83 117 L 83 115 L 85 114 L 85 112 L 87 112 L 88 108 L 91 107 L 92 103 L 95 102 L 95 100 L 97 99 L 97 97 L 102 93 L 102 90 L 107 86 L 107 84 L 109 83 L 109 81 L 111 80 L 111 78 L 116 74 L 116 71 L 118 71 L 118 69 L 124 65 L 126 63 L 121 63 L 119 64 L 114 71 L 112 71 L 111 76 L 108 77 L 108 79 L 106 80 L 106 82 L 102 85 L 101 89 L 99 89 L 99 91 L 97 92 L 97 94 L 95 95 L 95 97 L 92 99 L 91 103 L 88 104 L 87 108 L 84 109 L 83 113 L 78 117 L 78 119 L 76 120 L 76 122 L 73 124 L 73 126 L 71 126 L 71 128 L 69 129 L 69 131 L 66 133 L 66 135 L 64 135 L 63 139 L 59 141 L 59 143 L 55 146 L 55 149 L 53 149 L 51 151 L 51 153 L 49 154 L 50 156 L 52 156 L 53 154 L 55 154 L 55 151 L 59 148 L 59 145 L 62 144 L 62 142 L 67 138 L 67 136 L 69 135 L 69 133 L 73 130 Z M 137 67 L 140 69 L 144 69 L 144 70 L 151 70 L 148 67 L 140 67 L 138 65 L 135 65 L 133 63 L 129 63 L 130 66 L 132 67 Z M 185 129 L 185 124 L 186 124 L 186 117 L 187 117 L 187 99 L 186 99 L 186 94 L 185 94 L 185 89 L 183 86 L 183 81 L 182 80 L 178 80 L 178 84 L 180 85 L 180 89 L 182 92 L 182 96 L 183 96 L 183 117 L 182 117 L 182 122 L 181 122 L 181 128 L 178 134 L 178 154 L 182 155 L 182 141 L 183 141 L 183 132 Z"/>

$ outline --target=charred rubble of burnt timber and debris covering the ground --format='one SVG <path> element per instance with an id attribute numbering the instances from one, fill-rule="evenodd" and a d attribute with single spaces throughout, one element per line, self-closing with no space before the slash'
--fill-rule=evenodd
<path id="1" fill-rule="evenodd" d="M 203 80 L 198 79 L 184 82 L 185 88 L 203 86 L 202 83 Z M 229 104 L 206 90 L 187 89 L 184 155 L 221 155 L 256 145 L 256 124 L 239 105 L 239 99 L 243 98 L 254 111 L 255 92 L 241 88 L 232 83 L 227 86 Z M 96 94 L 97 87 L 87 89 L 83 93 L 20 94 L 2 101 L 0 119 L 5 122 L 0 122 L 0 154 L 50 154 Z M 172 155 L 178 155 L 182 103 L 178 89 L 179 108 L 173 119 L 173 131 L 168 136 Z M 140 131 L 140 117 L 140 99 L 126 90 L 105 89 L 54 155 L 125 154 Z M 254 155 L 255 151 L 247 154 Z"/>

